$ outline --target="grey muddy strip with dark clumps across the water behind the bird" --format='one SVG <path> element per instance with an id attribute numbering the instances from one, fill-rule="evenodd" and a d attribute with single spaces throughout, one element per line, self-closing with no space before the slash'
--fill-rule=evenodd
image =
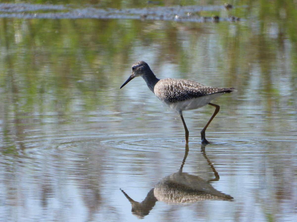
<path id="1" fill-rule="evenodd" d="M 77 19 L 77 18 L 97 18 L 97 19 L 146 19 L 146 20 L 175 20 L 189 22 L 205 22 L 219 20 L 238 21 L 239 18 L 229 16 L 219 18 L 201 17 L 201 11 L 220 11 L 225 6 L 174 6 L 174 7 L 149 7 L 130 9 L 100 9 L 94 7 L 75 8 L 72 5 L 53 4 L 5 4 L 0 3 L 0 17 L 15 18 L 48 18 L 48 19 Z"/>

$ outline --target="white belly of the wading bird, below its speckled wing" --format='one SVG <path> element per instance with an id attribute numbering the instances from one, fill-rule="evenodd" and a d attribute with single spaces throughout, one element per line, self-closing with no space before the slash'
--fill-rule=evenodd
<path id="1" fill-rule="evenodd" d="M 169 103 L 166 103 L 164 101 L 162 102 L 164 102 L 171 109 L 176 110 L 177 112 L 184 111 L 184 110 L 195 110 L 207 105 L 208 103 L 211 102 L 211 100 L 221 96 L 222 94 L 223 93 L 214 93 L 207 96 L 201 96 L 194 99 L 187 99 L 180 102 L 169 102 Z"/>

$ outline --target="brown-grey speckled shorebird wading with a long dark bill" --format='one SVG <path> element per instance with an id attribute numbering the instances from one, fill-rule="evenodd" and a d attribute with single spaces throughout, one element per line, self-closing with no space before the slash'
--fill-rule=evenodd
<path id="1" fill-rule="evenodd" d="M 209 144 L 205 138 L 205 131 L 211 120 L 213 120 L 220 110 L 219 105 L 211 103 L 211 100 L 221 96 L 222 94 L 234 91 L 234 88 L 210 87 L 188 79 L 158 79 L 146 62 L 138 61 L 132 65 L 132 74 L 120 87 L 120 89 L 137 76 L 141 76 L 144 81 L 146 81 L 149 89 L 159 100 L 173 110 L 176 110 L 181 116 L 181 121 L 183 122 L 185 128 L 186 143 L 189 142 L 189 130 L 184 121 L 182 112 L 185 110 L 195 110 L 207 104 L 214 106 L 214 114 L 201 130 L 201 143 Z"/>

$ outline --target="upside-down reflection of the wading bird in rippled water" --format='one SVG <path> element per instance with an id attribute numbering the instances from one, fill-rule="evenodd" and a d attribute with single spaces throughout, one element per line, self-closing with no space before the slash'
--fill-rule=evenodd
<path id="1" fill-rule="evenodd" d="M 195 203 L 203 200 L 229 200 L 233 197 L 224 194 L 211 186 L 211 181 L 218 181 L 219 174 L 211 164 L 205 153 L 205 145 L 201 145 L 201 153 L 214 172 L 215 178 L 204 180 L 199 176 L 183 172 L 183 167 L 189 153 L 189 146 L 186 150 L 183 162 L 178 172 L 162 179 L 155 188 L 151 189 L 142 202 L 132 200 L 122 189 L 121 192 L 127 197 L 132 205 L 132 214 L 138 218 L 144 218 L 153 209 L 157 201 L 168 204 Z"/>

